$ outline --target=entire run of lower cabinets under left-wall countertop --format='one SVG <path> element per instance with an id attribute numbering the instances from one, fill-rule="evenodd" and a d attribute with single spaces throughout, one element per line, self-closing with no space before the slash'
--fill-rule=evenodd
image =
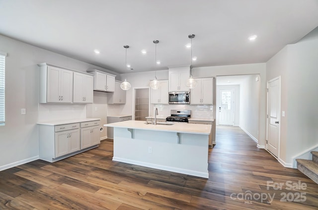
<path id="1" fill-rule="evenodd" d="M 99 120 L 69 124 L 39 124 L 39 158 L 55 162 L 97 147 Z"/>

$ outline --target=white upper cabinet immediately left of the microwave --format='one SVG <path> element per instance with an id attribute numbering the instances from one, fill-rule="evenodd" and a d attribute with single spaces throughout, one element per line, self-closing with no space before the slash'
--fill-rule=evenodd
<path id="1" fill-rule="evenodd" d="M 151 89 L 150 103 L 151 104 L 168 104 L 168 80 L 160 80 L 158 90 Z"/>

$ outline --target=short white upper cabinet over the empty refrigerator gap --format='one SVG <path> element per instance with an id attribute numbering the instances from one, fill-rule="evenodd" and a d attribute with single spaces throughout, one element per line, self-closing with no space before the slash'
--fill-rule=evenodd
<path id="1" fill-rule="evenodd" d="M 87 70 L 94 74 L 94 91 L 114 92 L 115 76 L 99 70 Z"/>

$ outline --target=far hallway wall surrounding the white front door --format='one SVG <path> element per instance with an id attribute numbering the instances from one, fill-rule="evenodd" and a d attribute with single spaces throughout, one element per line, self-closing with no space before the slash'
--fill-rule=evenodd
<path id="1" fill-rule="evenodd" d="M 218 80 L 218 78 L 217 78 Z M 216 99 L 216 113 L 215 113 L 215 122 L 216 122 L 216 125 L 219 125 L 219 111 L 218 111 L 218 107 L 219 106 L 219 90 L 220 89 L 234 89 L 234 102 L 235 102 L 235 105 L 234 105 L 234 126 L 239 126 L 239 85 L 218 85 L 217 86 L 217 91 L 216 91 L 216 94 L 217 94 L 217 99 Z M 258 121 L 257 121 L 258 122 Z"/>

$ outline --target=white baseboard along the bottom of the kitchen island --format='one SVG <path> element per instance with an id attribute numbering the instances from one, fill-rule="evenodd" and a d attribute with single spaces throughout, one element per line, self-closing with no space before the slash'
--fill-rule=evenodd
<path id="1" fill-rule="evenodd" d="M 119 162 L 126 162 L 126 163 L 130 163 L 130 164 L 135 164 L 135 165 L 146 166 L 146 167 L 150 167 L 150 168 L 157 168 L 160 170 L 188 174 L 188 175 L 192 175 L 192 176 L 209 178 L 208 170 L 207 170 L 207 172 L 193 171 L 193 170 L 187 170 L 187 169 L 182 169 L 182 168 L 175 168 L 175 167 L 158 165 L 158 164 L 153 164 L 153 163 L 148 163 L 148 162 L 141 162 L 141 161 L 136 161 L 136 160 L 131 160 L 131 159 L 125 159 L 125 158 L 120 158 L 120 157 L 113 157 L 113 160 L 119 161 Z"/>

